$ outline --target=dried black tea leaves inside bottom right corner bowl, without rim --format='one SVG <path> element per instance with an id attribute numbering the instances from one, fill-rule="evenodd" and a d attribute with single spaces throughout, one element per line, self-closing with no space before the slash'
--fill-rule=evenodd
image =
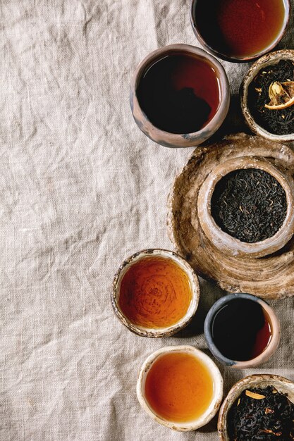
<path id="1" fill-rule="evenodd" d="M 294 404 L 272 386 L 244 390 L 228 412 L 230 441 L 294 440 Z"/>

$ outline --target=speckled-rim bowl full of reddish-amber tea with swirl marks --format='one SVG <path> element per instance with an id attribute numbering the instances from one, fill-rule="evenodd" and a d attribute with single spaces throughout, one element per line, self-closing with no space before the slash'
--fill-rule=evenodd
<path id="1" fill-rule="evenodd" d="M 166 249 L 145 249 L 121 264 L 111 304 L 133 333 L 169 337 L 188 325 L 199 297 L 197 275 L 183 257 Z"/>

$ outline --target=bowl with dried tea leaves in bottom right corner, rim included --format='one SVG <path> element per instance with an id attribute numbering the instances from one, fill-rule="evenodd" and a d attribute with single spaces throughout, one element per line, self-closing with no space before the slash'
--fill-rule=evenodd
<path id="1" fill-rule="evenodd" d="M 231 388 L 219 411 L 222 441 L 294 439 L 294 383 L 279 375 L 249 375 Z"/>

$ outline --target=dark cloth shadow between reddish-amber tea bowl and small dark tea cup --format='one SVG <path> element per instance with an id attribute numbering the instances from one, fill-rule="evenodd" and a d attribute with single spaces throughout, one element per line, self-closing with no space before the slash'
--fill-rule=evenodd
<path id="1" fill-rule="evenodd" d="M 173 335 L 173 338 L 195 337 L 204 332 L 204 321 L 209 309 L 220 297 L 226 294 L 216 285 L 212 285 L 207 280 L 200 279 L 200 299 L 195 316 L 192 317 L 190 323 Z"/>

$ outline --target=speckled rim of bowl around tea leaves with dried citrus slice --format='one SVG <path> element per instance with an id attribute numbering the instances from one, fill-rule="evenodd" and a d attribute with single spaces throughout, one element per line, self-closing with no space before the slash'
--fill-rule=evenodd
<path id="1" fill-rule="evenodd" d="M 252 130 L 252 132 L 255 132 L 257 135 L 269 139 L 269 141 L 275 142 L 294 141 L 294 133 L 290 133 L 288 135 L 275 135 L 274 133 L 271 133 L 268 130 L 262 128 L 261 125 L 257 124 L 252 116 L 252 113 L 250 113 L 250 108 L 248 106 L 248 88 L 250 86 L 250 83 L 259 73 L 259 70 L 262 70 L 267 66 L 277 64 L 283 59 L 288 59 L 294 62 L 294 51 L 291 51 L 290 49 L 275 51 L 271 52 L 271 54 L 263 56 L 262 58 L 259 58 L 259 60 L 255 61 L 255 63 L 253 63 L 248 70 L 240 87 L 241 108 L 247 125 Z"/>

